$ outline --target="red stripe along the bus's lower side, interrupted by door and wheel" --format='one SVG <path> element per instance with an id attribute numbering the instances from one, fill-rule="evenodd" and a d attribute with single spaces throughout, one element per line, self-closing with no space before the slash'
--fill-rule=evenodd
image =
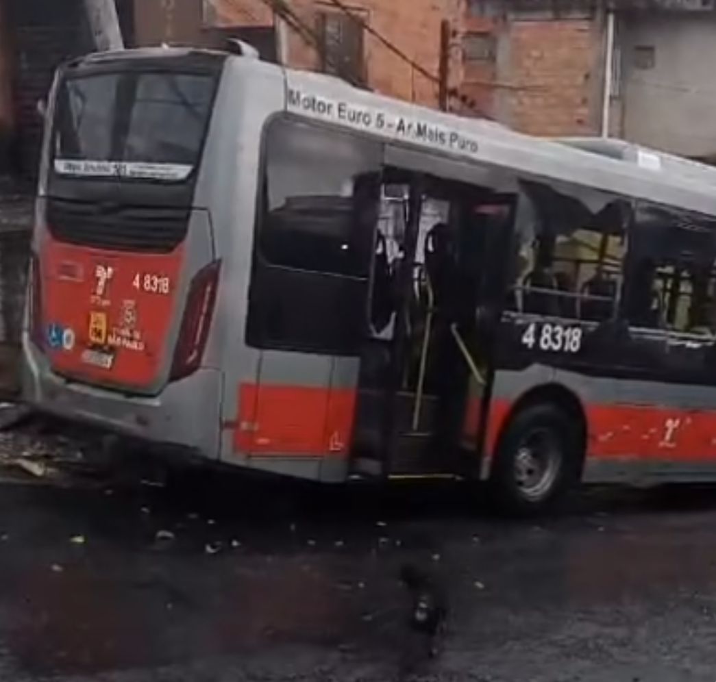
<path id="1" fill-rule="evenodd" d="M 348 454 L 356 393 L 304 386 L 242 384 L 238 391 L 234 447 L 241 452 L 277 455 Z M 513 403 L 490 406 L 486 452 L 497 447 Z M 590 457 L 703 459 L 716 461 L 716 410 L 697 411 L 638 405 L 586 406 Z M 478 434 L 480 401 L 470 401 L 464 437 Z"/>

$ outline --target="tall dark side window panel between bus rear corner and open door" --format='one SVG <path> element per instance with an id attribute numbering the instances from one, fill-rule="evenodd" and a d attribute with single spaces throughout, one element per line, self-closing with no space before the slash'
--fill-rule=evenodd
<path id="1" fill-rule="evenodd" d="M 266 130 L 247 342 L 357 354 L 379 218 L 380 146 L 293 120 Z"/>

